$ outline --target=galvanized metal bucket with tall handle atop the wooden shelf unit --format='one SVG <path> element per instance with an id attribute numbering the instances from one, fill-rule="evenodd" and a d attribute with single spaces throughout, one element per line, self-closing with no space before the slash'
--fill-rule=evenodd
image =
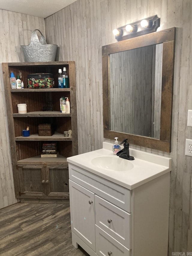
<path id="1" fill-rule="evenodd" d="M 24 54 L 25 62 L 48 62 L 55 61 L 55 56 L 57 52 L 56 44 L 47 44 L 46 39 L 41 33 L 41 38 L 39 40 L 37 32 L 41 31 L 35 29 L 31 35 L 31 42 L 29 45 L 21 45 L 21 49 Z"/>

